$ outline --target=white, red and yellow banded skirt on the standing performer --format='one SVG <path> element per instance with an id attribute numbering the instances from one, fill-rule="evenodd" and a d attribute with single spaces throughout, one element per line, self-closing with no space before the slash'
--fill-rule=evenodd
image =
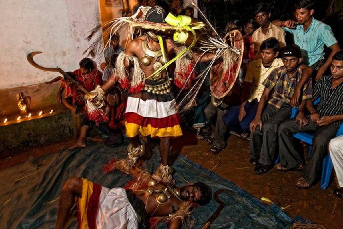
<path id="1" fill-rule="evenodd" d="M 125 112 L 127 137 L 138 133 L 150 137 L 179 137 L 182 135 L 174 100 L 158 102 L 129 97 Z"/>

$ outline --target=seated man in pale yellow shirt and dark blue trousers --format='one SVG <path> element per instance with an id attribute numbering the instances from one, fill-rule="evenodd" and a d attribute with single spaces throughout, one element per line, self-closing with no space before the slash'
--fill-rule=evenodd
<path id="1" fill-rule="evenodd" d="M 223 116 L 223 122 L 228 129 L 246 136 L 250 122 L 255 118 L 257 106 L 261 99 L 264 85 L 262 84 L 269 74 L 276 68 L 283 66 L 279 55 L 279 41 L 268 38 L 260 46 L 262 59 L 249 63 L 243 84 L 241 105 L 231 107 Z"/>

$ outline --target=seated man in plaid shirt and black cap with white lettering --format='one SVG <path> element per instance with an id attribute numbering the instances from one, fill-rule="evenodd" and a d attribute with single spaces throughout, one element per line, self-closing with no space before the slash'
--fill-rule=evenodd
<path id="1" fill-rule="evenodd" d="M 292 95 L 301 79 L 299 64 L 302 58 L 299 46 L 287 45 L 281 58 L 284 66 L 274 69 L 263 82 L 265 89 L 255 119 L 250 123 L 250 162 L 256 164 L 256 174 L 263 174 L 273 168 L 277 128 L 282 121 L 291 117 Z M 305 109 L 306 100 L 312 98 L 310 80 L 304 85 L 302 94 L 299 109 Z"/>

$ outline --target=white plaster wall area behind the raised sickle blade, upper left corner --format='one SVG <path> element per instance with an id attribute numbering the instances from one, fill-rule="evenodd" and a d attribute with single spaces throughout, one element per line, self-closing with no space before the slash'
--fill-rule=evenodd
<path id="1" fill-rule="evenodd" d="M 100 24 L 98 0 L 0 0 L 0 89 L 46 82 L 58 76 L 31 66 L 35 61 L 65 71 L 79 67 L 85 40 Z"/>

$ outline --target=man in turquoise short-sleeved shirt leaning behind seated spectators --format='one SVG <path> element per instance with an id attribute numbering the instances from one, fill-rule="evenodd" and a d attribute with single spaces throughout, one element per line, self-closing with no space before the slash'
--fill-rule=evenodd
<path id="1" fill-rule="evenodd" d="M 292 33 L 294 43 L 303 52 L 303 64 L 307 64 L 315 70 L 315 80 L 317 81 L 330 66 L 332 56 L 340 50 L 340 46 L 331 27 L 313 18 L 314 1 L 298 0 L 295 8 L 297 22 L 275 20 L 273 24 L 283 26 L 285 31 Z M 324 45 L 331 49 L 327 60 L 324 59 Z"/>

